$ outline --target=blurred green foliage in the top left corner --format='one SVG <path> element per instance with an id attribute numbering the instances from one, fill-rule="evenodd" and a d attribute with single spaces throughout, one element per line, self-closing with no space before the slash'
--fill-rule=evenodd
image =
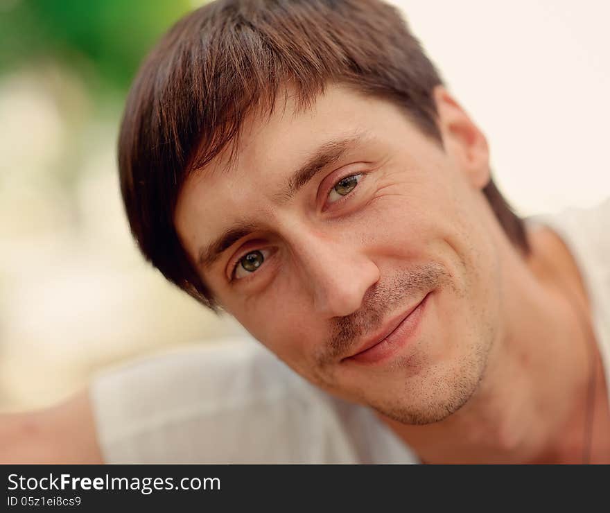
<path id="1" fill-rule="evenodd" d="M 92 92 L 125 90 L 159 36 L 192 8 L 188 0 L 0 0 L 0 73 L 51 59 L 82 73 Z"/>

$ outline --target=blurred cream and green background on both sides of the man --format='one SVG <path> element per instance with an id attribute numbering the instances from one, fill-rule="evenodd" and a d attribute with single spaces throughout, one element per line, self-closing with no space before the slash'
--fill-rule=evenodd
<path id="1" fill-rule="evenodd" d="M 0 410 L 140 354 L 243 333 L 128 232 L 116 137 L 138 64 L 203 1 L 0 0 Z M 398 0 L 522 215 L 610 195 L 610 4 Z"/>

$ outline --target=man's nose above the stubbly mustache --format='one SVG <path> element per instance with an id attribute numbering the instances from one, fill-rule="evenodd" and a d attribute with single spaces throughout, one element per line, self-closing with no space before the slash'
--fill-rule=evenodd
<path id="1" fill-rule="evenodd" d="M 354 313 L 380 277 L 376 263 L 354 238 L 303 232 L 293 253 L 311 291 L 315 312 L 325 318 Z"/>

